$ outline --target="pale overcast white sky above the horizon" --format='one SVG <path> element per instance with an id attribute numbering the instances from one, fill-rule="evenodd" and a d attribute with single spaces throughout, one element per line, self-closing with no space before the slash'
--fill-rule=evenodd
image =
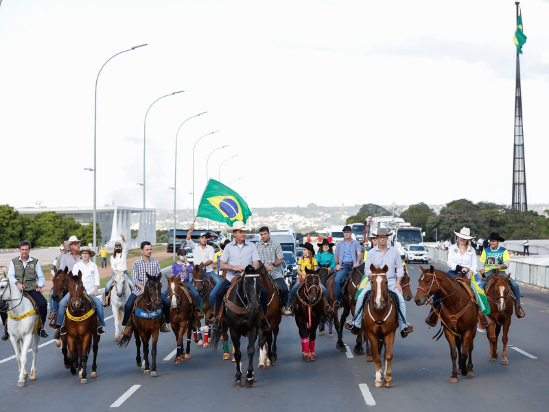
<path id="1" fill-rule="evenodd" d="M 549 2 L 521 2 L 528 203 L 547 203 Z M 514 1 L 3 0 L 0 204 L 511 203 Z M 194 151 L 196 141 L 203 135 Z M 242 179 L 240 179 L 242 178 Z M 239 180 L 237 180 L 239 179 Z"/>

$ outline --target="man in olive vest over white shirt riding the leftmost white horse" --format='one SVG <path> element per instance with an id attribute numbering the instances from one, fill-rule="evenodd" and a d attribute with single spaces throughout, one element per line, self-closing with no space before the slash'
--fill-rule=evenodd
<path id="1" fill-rule="evenodd" d="M 42 288 L 45 286 L 45 277 L 40 267 L 40 262 L 29 256 L 30 242 L 23 240 L 19 244 L 19 252 L 21 255 L 17 258 L 13 258 L 10 261 L 10 268 L 8 268 L 8 277 L 19 290 L 22 290 L 30 295 L 38 306 L 38 312 L 40 312 L 40 319 L 42 319 L 42 325 L 45 325 L 47 315 L 47 301 L 42 296 Z M 8 302 L 2 302 L 0 304 L 0 310 L 2 310 L 4 323 L 4 332 L 2 334 L 2 340 L 7 341 L 10 337 L 8 334 L 8 321 L 4 318 L 6 315 L 4 311 L 8 310 Z M 7 318 L 7 317 L 6 317 Z M 42 328 L 38 331 L 40 336 L 47 338 L 47 331 Z"/>

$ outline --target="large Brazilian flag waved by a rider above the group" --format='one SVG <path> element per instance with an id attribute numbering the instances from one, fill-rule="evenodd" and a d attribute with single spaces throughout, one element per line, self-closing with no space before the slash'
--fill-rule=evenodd
<path id="1" fill-rule="evenodd" d="M 246 223 L 252 212 L 240 194 L 221 182 L 209 179 L 196 216 L 233 226 L 236 220 Z"/>

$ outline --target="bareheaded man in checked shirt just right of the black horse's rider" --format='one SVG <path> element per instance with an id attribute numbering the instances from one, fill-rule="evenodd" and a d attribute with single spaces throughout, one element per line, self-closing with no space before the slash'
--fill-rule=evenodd
<path id="1" fill-rule="evenodd" d="M 288 302 L 288 285 L 284 282 L 284 272 L 281 266 L 282 262 L 284 262 L 282 247 L 279 242 L 270 238 L 270 231 L 266 226 L 259 228 L 259 236 L 261 236 L 261 240 L 256 245 L 259 260 L 264 264 L 270 277 L 272 277 L 274 282 L 277 282 L 279 288 L 282 290 L 282 301 L 285 305 L 284 308 L 281 308 L 282 314 L 290 316 L 292 311 Z"/>

